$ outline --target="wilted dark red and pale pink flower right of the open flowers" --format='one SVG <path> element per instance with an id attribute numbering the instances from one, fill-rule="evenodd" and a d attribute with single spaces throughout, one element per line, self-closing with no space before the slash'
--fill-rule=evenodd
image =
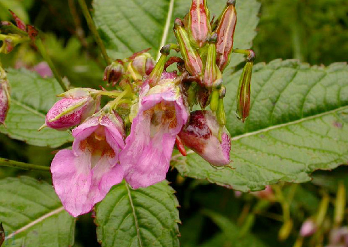
<path id="1" fill-rule="evenodd" d="M 215 166 L 230 163 L 231 139 L 222 127 L 219 140 L 219 123 L 210 111 L 194 111 L 187 126 L 178 134 L 183 144 Z"/>

